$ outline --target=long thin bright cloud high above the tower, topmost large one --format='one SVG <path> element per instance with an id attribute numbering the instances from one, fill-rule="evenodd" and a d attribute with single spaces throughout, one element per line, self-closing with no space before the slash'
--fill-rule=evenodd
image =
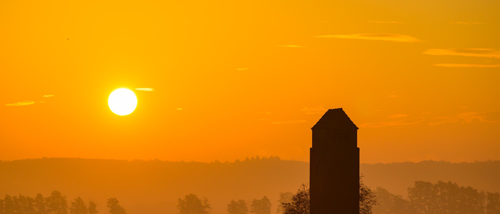
<path id="1" fill-rule="evenodd" d="M 396 42 L 418 42 L 421 41 L 413 36 L 392 34 L 392 33 L 357 33 L 344 35 L 318 35 L 316 38 L 352 38 L 352 39 L 367 39 L 367 40 L 382 40 Z"/>

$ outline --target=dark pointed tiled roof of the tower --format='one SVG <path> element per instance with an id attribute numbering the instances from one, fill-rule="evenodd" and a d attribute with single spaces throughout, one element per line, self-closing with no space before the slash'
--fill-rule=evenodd
<path id="1" fill-rule="evenodd" d="M 317 120 L 316 124 L 312 126 L 311 129 L 316 128 L 324 128 L 326 126 L 344 126 L 344 127 L 352 127 L 356 130 L 359 129 L 352 120 L 347 116 L 345 111 L 342 108 L 332 108 L 328 109 L 326 113 Z"/>

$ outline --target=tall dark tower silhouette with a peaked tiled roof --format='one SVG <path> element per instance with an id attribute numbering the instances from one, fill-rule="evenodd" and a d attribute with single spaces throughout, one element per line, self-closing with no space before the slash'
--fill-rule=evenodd
<path id="1" fill-rule="evenodd" d="M 358 127 L 334 108 L 311 129 L 310 214 L 359 214 Z"/>

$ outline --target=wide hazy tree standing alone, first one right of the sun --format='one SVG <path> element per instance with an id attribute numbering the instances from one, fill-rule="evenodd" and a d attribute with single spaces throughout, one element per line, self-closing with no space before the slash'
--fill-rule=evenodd
<path id="1" fill-rule="evenodd" d="M 179 209 L 179 214 L 207 214 L 210 213 L 211 207 L 206 197 L 201 200 L 191 193 L 186 194 L 184 199 L 178 198 L 177 209 Z"/>

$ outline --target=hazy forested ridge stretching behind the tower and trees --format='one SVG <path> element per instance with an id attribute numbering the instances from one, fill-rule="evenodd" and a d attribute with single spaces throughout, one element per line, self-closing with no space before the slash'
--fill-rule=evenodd
<path id="1" fill-rule="evenodd" d="M 14 197 L 19 200 L 28 196 L 34 200 L 40 192 L 47 194 L 48 198 L 56 189 L 67 196 L 68 213 L 72 202 L 78 198 L 77 203 L 85 204 L 87 210 L 90 210 L 90 200 L 95 201 L 95 211 L 99 213 L 108 213 L 108 199 L 118 198 L 119 204 L 123 205 L 128 214 L 164 214 L 179 213 L 179 198 L 192 193 L 201 201 L 204 198 L 209 200 L 210 213 L 228 213 L 228 203 L 231 201 L 234 201 L 234 207 L 242 207 L 240 203 L 244 201 L 248 213 L 251 213 L 252 202 L 265 195 L 269 200 L 265 204 L 269 205 L 271 213 L 280 213 L 281 202 L 290 198 L 300 184 L 308 182 L 308 166 L 308 162 L 282 160 L 276 156 L 210 163 L 81 158 L 0 161 L 0 199 L 5 201 L 4 196 L 8 194 L 12 200 Z M 460 191 L 470 188 L 471 192 L 477 192 L 471 193 L 475 195 L 476 202 L 467 204 L 476 204 L 474 210 L 480 210 L 477 204 L 482 204 L 485 214 L 496 214 L 487 212 L 487 204 L 488 197 L 490 201 L 494 201 L 496 192 L 500 191 L 500 161 L 361 164 L 360 172 L 365 175 L 364 183 L 376 193 L 379 205 L 373 207 L 373 214 L 470 213 L 453 212 L 461 209 L 432 211 L 436 209 L 421 208 L 448 204 L 449 201 L 439 199 L 439 195 L 442 195 L 439 192 L 443 189 Z M 421 183 L 417 184 L 415 180 L 420 180 Z M 447 182 L 448 180 L 459 185 Z M 472 187 L 462 188 L 461 185 Z M 423 203 L 414 199 L 418 197 L 412 199 L 413 193 L 408 187 L 423 189 L 422 186 L 427 190 L 431 189 L 425 193 L 427 202 L 439 202 Z M 423 197 L 423 193 L 419 195 Z"/>

